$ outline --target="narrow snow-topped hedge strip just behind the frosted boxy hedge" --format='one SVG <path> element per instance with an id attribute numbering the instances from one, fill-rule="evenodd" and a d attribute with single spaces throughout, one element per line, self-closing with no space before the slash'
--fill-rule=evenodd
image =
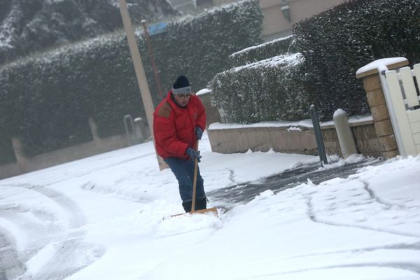
<path id="1" fill-rule="evenodd" d="M 290 43 L 293 41 L 293 35 L 285 38 L 279 38 L 261 45 L 255 45 L 239 52 L 232 53 L 229 56 L 232 67 L 237 67 L 253 62 L 258 62 L 263 59 L 283 55 L 288 52 Z"/>

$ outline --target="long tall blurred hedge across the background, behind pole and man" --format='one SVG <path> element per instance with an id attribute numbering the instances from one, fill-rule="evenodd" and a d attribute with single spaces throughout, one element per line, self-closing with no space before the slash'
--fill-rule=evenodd
<path id="1" fill-rule="evenodd" d="M 257 0 L 169 22 L 167 33 L 152 37 L 162 89 L 169 90 L 180 74 L 188 76 L 193 90 L 205 87 L 228 68 L 232 52 L 261 43 L 261 29 Z M 137 29 L 138 45 L 157 105 L 161 98 L 141 30 Z M 2 66 L 0 111 L 0 133 L 21 139 L 29 156 L 89 141 L 89 117 L 101 137 L 123 133 L 125 115 L 145 116 L 125 34 L 120 31 Z M 3 155 L 10 155 L 10 147 L 3 149 L 8 150 Z"/>

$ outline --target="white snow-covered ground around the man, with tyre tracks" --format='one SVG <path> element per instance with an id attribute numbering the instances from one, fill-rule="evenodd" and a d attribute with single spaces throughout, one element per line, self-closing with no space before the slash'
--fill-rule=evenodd
<path id="1" fill-rule="evenodd" d="M 318 161 L 204 138 L 208 192 Z M 163 220 L 181 200 L 149 142 L 1 180 L 0 279 L 420 279 L 419 182 L 420 156 L 397 158 Z"/>

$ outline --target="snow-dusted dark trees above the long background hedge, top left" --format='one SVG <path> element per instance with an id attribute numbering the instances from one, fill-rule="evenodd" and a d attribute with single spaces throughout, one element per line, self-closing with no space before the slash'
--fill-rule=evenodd
<path id="1" fill-rule="evenodd" d="M 167 0 L 127 0 L 134 24 L 178 15 Z M 118 0 L 1 0 L 0 64 L 123 27 Z"/>

